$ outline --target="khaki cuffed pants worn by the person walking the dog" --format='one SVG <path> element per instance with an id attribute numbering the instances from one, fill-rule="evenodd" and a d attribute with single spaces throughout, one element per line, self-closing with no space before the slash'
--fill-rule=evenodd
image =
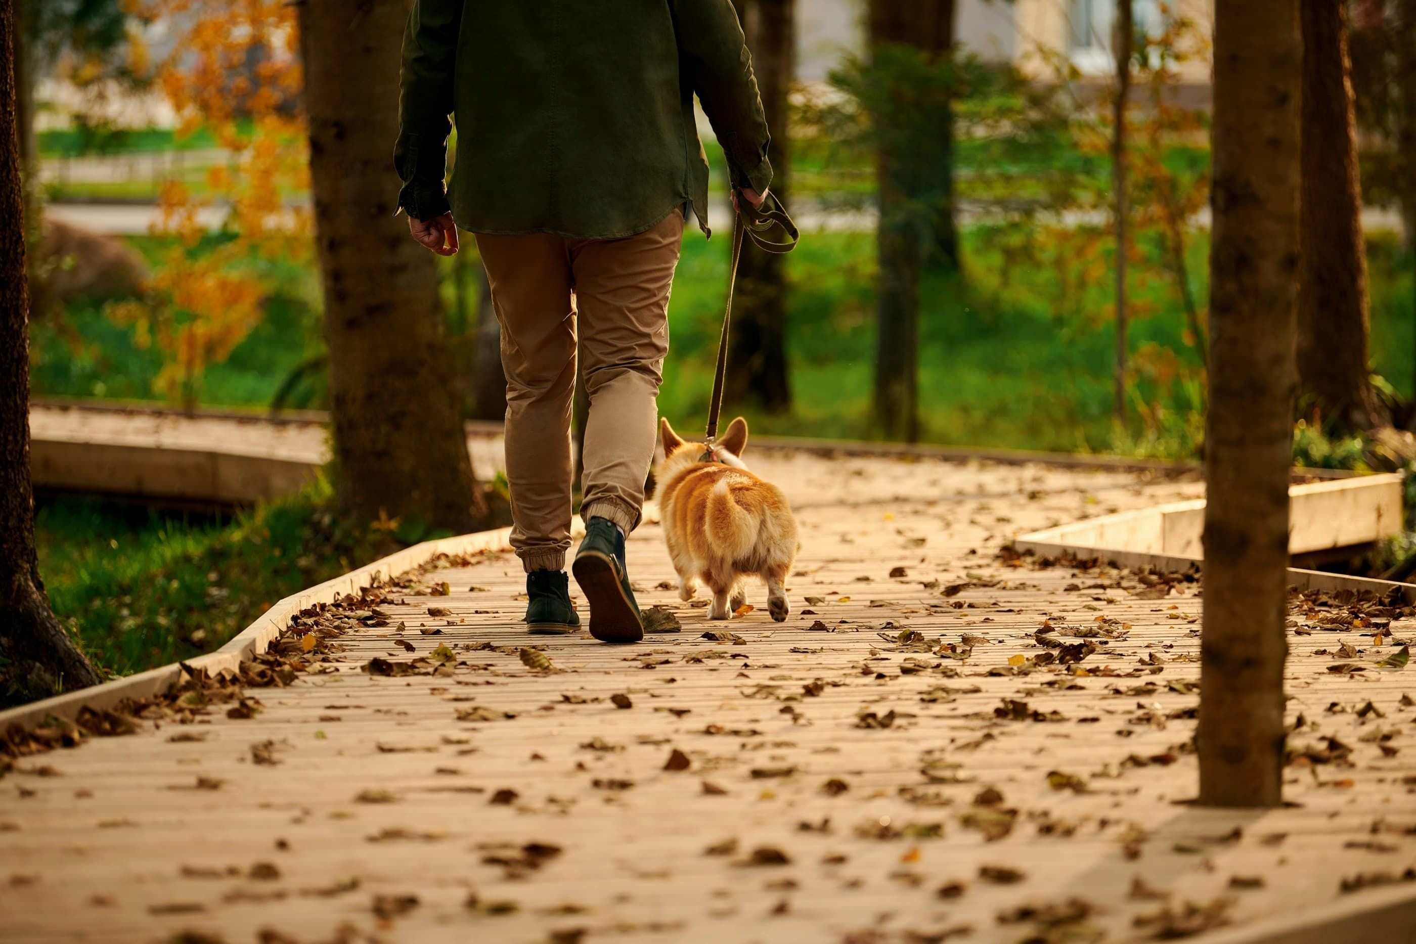
<path id="1" fill-rule="evenodd" d="M 565 569 L 571 546 L 576 323 L 590 399 L 581 517 L 639 524 L 683 235 L 678 209 L 624 239 L 477 234 L 507 374 L 511 546 L 528 572 Z"/>

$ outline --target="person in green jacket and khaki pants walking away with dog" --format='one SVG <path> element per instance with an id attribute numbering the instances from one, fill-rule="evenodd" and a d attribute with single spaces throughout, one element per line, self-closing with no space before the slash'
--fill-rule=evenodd
<path id="1" fill-rule="evenodd" d="M 565 575 L 579 330 L 590 412 L 575 579 L 590 634 L 636 643 L 624 536 L 644 502 L 690 211 L 708 234 L 694 95 L 732 187 L 758 205 L 772 180 L 736 13 L 731 0 L 415 0 L 401 85 L 394 161 L 409 231 L 439 255 L 457 252 L 456 225 L 476 234 L 491 283 L 528 628 L 579 626 Z"/>

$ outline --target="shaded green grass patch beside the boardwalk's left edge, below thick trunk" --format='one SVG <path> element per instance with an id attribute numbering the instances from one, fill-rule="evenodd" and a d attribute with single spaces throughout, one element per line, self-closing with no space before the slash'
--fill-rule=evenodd
<path id="1" fill-rule="evenodd" d="M 96 665 L 126 675 L 217 650 L 285 596 L 374 559 L 323 485 L 235 519 L 96 498 L 35 514 L 54 611 Z"/>

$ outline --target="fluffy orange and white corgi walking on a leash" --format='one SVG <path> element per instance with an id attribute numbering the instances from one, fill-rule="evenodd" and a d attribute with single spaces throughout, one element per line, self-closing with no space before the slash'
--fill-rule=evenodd
<path id="1" fill-rule="evenodd" d="M 767 613 L 787 618 L 786 579 L 796 560 L 796 518 L 786 495 L 742 463 L 748 423 L 741 416 L 718 437 L 718 461 L 701 461 L 702 443 L 684 442 L 660 420 L 664 461 L 657 476 L 660 518 L 678 596 L 694 599 L 698 580 L 712 593 L 709 620 L 726 620 L 748 601 L 743 577 L 767 585 Z"/>

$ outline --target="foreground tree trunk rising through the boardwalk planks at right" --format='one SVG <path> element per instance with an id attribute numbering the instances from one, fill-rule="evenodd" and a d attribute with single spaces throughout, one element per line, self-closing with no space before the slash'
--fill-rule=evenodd
<path id="1" fill-rule="evenodd" d="M 1298 0 L 1216 3 L 1197 733 L 1209 807 L 1280 802 L 1301 71 Z"/>

